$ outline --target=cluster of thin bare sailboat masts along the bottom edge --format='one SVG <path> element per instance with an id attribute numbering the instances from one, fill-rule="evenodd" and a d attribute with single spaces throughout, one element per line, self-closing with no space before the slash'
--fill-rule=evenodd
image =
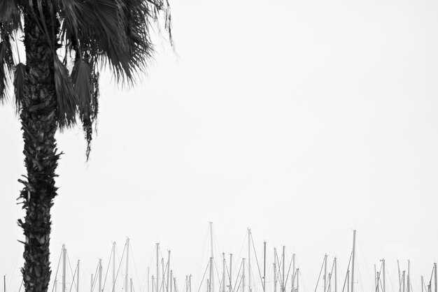
<path id="1" fill-rule="evenodd" d="M 253 236 L 250 228 L 248 228 L 248 254 L 247 257 L 239 258 L 239 268 L 236 275 L 233 275 L 233 254 L 229 254 L 229 261 L 225 257 L 225 253 L 222 252 L 222 270 L 217 269 L 215 257 L 213 254 L 213 224 L 209 224 L 210 231 L 210 255 L 209 261 L 204 270 L 204 275 L 199 282 L 199 286 L 194 287 L 195 292 L 253 292 L 255 289 L 255 282 L 258 285 L 261 284 L 262 292 L 267 291 L 267 243 L 263 242 L 263 256 L 262 265 L 259 265 L 257 258 L 257 252 L 255 251 L 255 244 L 253 242 Z M 328 256 L 325 254 L 323 258 L 323 264 L 320 268 L 320 273 L 318 275 L 318 281 L 316 282 L 315 292 L 318 291 L 319 286 L 323 286 L 323 292 L 354 292 L 355 284 L 355 237 L 356 231 L 353 231 L 353 249 L 351 251 L 350 260 L 348 261 L 348 267 L 346 269 L 346 274 L 344 277 L 342 289 L 338 289 L 338 272 L 337 272 L 337 258 L 334 257 L 331 267 L 328 263 Z M 179 292 L 177 286 L 176 273 L 171 269 L 171 251 L 167 251 L 167 261 L 160 251 L 160 243 L 157 243 L 154 249 L 156 256 L 155 260 L 155 273 L 150 275 L 151 269 L 148 266 L 147 274 L 147 289 L 141 289 L 139 292 Z M 127 238 L 125 247 L 120 257 L 120 261 L 116 261 L 116 244 L 113 242 L 113 247 L 111 249 L 110 261 L 103 275 L 102 260 L 99 258 L 97 263 L 96 271 L 91 274 L 90 280 L 90 292 L 135 292 L 134 284 L 132 282 L 132 277 L 129 277 L 129 259 L 132 258 L 134 261 L 134 256 L 129 253 L 129 238 Z M 285 247 L 278 249 L 274 247 L 274 262 L 271 267 L 274 268 L 274 277 L 269 283 L 272 284 L 271 291 L 273 292 L 299 292 L 299 276 L 301 272 L 297 268 L 295 263 L 295 254 L 292 254 L 291 261 L 286 263 L 286 253 Z M 61 261 L 62 260 L 62 261 Z M 253 279 L 251 265 L 254 264 L 258 272 L 258 279 Z M 59 283 L 58 270 L 59 264 L 62 262 L 62 279 Z M 65 245 L 62 245 L 61 255 L 59 256 L 59 261 L 57 265 L 57 271 L 55 273 L 55 280 L 52 286 L 51 292 L 79 292 L 79 269 L 80 261 L 78 260 L 76 268 L 73 272 L 71 270 L 71 281 L 70 287 L 67 287 L 66 280 L 66 267 L 67 263 L 71 267 L 69 262 L 69 257 Z M 134 262 L 135 264 L 135 262 Z M 121 272 L 122 266 L 125 265 L 123 274 Z M 112 279 L 108 281 L 107 276 L 109 269 L 112 268 Z M 407 264 L 407 270 L 400 270 L 400 263 L 397 261 L 398 268 L 398 282 L 399 291 L 398 292 L 413 292 L 412 283 L 410 277 L 410 261 Z M 70 268 L 71 269 L 71 268 Z M 215 280 L 215 275 L 218 279 Z M 120 278 L 122 278 L 120 281 Z M 257 277 L 256 277 L 257 278 Z M 6 292 L 6 277 L 4 279 L 4 292 Z M 321 281 L 322 279 L 322 281 Z M 255 281 L 254 281 L 255 280 Z M 58 291 L 59 284 L 61 285 L 61 291 Z M 218 286 L 215 286 L 218 284 Z M 145 283 L 146 286 L 146 283 Z M 421 276 L 421 292 L 438 292 L 437 291 L 437 264 L 434 263 L 432 268 L 432 274 L 428 282 L 425 282 L 423 276 Z M 433 290 L 432 290 L 433 288 Z M 21 286 L 19 292 L 21 290 Z M 123 291 L 124 290 L 124 291 Z M 145 291 L 146 290 L 146 291 Z M 257 289 L 255 289 L 257 291 Z M 81 291 L 82 292 L 82 291 Z M 181 292 L 192 292 L 192 275 L 185 276 L 185 283 L 183 290 Z M 386 266 L 385 259 L 381 259 L 381 265 L 379 270 L 377 270 L 376 265 L 374 265 L 374 292 L 386 292 Z"/>

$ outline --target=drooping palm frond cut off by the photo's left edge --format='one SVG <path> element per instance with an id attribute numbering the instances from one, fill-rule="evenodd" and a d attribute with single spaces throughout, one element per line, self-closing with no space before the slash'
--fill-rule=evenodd
<path id="1" fill-rule="evenodd" d="M 14 69 L 14 60 L 10 38 L 6 36 L 0 43 L 0 102 L 8 95 L 8 81 Z"/>

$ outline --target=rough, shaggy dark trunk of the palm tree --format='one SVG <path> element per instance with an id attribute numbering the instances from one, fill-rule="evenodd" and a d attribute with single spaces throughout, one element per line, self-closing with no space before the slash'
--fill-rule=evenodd
<path id="1" fill-rule="evenodd" d="M 36 1 L 32 1 L 35 2 Z M 24 222 L 24 267 L 22 275 L 27 292 L 48 291 L 50 281 L 50 207 L 56 196 L 55 170 L 57 154 L 57 98 L 55 94 L 53 49 L 59 30 L 58 22 L 50 18 L 50 10 L 43 0 L 43 20 L 38 6 L 24 11 L 24 45 L 26 48 L 26 75 L 24 101 L 20 119 L 24 138 L 24 164 L 27 177 L 20 198 L 26 210 Z M 38 15 L 38 23 L 34 16 Z M 45 27 L 43 25 L 45 22 Z M 46 30 L 47 29 L 47 30 Z M 45 34 L 49 32 L 49 35 Z M 50 45 L 48 40 L 52 44 Z"/>

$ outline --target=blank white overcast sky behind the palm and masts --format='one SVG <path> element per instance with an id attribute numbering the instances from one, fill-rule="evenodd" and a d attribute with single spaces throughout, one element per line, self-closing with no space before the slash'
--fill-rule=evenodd
<path id="1" fill-rule="evenodd" d="M 104 76 L 90 161 L 80 129 L 57 135 L 66 154 L 52 270 L 65 242 L 87 291 L 97 258 L 105 270 L 111 242 L 121 254 L 129 236 L 134 285 L 157 241 L 172 251 L 180 289 L 190 273 L 199 285 L 213 221 L 217 253 L 240 254 L 250 227 L 259 259 L 262 240 L 269 256 L 285 244 L 312 292 L 325 253 L 338 257 L 341 282 L 355 228 L 356 291 L 371 291 L 384 257 L 388 289 L 397 292 L 397 259 L 406 269 L 409 258 L 419 292 L 438 261 L 438 2 L 171 6 L 178 56 L 161 39 L 136 89 Z M 0 107 L 0 135 L 0 275 L 13 292 L 24 167 L 11 104 Z"/>

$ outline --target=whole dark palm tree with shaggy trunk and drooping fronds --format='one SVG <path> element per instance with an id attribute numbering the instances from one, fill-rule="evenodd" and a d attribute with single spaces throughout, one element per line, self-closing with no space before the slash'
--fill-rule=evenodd
<path id="1" fill-rule="evenodd" d="M 171 40 L 167 0 L 0 0 L 0 102 L 13 81 L 27 169 L 20 180 L 26 215 L 18 221 L 26 291 L 47 291 L 50 280 L 50 207 L 62 154 L 55 132 L 80 122 L 88 159 L 99 69 L 110 68 L 116 81 L 134 85 L 153 54 L 149 31 L 160 15 Z M 25 58 L 13 50 L 21 36 Z"/>

